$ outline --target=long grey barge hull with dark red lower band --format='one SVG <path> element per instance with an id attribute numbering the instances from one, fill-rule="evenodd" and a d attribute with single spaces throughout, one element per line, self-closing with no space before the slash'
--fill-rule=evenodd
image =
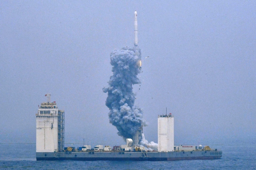
<path id="1" fill-rule="evenodd" d="M 222 157 L 222 151 L 189 152 L 40 152 L 37 161 L 178 161 L 211 160 Z"/>

